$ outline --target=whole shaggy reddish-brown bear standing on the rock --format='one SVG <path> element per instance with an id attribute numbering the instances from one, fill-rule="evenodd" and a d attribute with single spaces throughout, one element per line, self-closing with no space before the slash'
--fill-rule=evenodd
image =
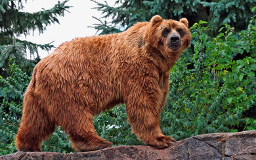
<path id="1" fill-rule="evenodd" d="M 167 148 L 175 140 L 160 129 L 169 70 L 190 45 L 188 20 L 154 16 L 122 33 L 63 43 L 34 68 L 24 95 L 16 136 L 21 151 L 41 151 L 42 140 L 62 127 L 77 151 L 100 150 L 93 116 L 125 103 L 129 123 L 142 142 Z"/>

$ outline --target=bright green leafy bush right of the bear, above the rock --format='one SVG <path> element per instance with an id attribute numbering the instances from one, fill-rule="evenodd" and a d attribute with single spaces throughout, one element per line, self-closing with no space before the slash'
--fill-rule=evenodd
<path id="1" fill-rule="evenodd" d="M 245 112 L 255 107 L 255 20 L 248 30 L 234 33 L 224 24 L 213 39 L 200 21 L 190 30 L 194 52 L 171 69 L 170 90 L 161 126 L 180 140 L 196 134 L 237 132 L 256 128 L 255 117 Z M 252 28 L 251 28 L 252 27 Z M 252 30 L 251 30 L 252 29 Z M 253 42 L 254 41 L 254 42 Z M 238 59 L 238 54 L 249 53 Z"/>

